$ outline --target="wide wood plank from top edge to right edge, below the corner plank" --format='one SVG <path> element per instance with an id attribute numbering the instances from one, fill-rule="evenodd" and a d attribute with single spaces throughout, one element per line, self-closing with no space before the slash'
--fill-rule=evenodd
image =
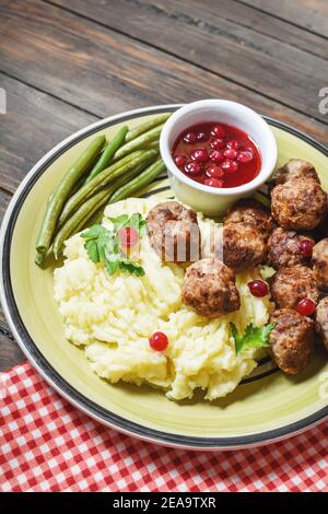
<path id="1" fill-rule="evenodd" d="M 317 107 L 318 90 L 327 79 L 325 59 L 220 17 L 221 2 L 73 1 L 87 3 L 92 19 L 101 5 L 96 19 L 109 27 L 116 19 L 117 30 L 327 122 Z"/>

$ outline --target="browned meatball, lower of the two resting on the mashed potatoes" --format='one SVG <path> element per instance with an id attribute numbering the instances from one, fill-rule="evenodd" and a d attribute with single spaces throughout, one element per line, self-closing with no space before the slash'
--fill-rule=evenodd
<path id="1" fill-rule="evenodd" d="M 197 314 L 209 318 L 237 311 L 241 297 L 233 270 L 213 257 L 189 266 L 183 287 L 183 301 Z"/>

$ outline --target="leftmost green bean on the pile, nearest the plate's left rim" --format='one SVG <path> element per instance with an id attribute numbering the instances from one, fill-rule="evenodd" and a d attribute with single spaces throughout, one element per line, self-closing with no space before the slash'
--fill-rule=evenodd
<path id="1" fill-rule="evenodd" d="M 80 157 L 72 164 L 59 185 L 51 194 L 44 215 L 43 224 L 36 242 L 38 254 L 46 254 L 49 249 L 54 232 L 57 225 L 61 209 L 71 194 L 72 188 L 83 176 L 83 174 L 94 163 L 106 141 L 105 136 L 95 138 Z"/>

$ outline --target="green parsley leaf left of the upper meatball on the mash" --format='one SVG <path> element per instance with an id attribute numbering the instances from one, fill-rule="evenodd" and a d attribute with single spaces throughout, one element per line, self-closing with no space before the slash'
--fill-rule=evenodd
<path id="1" fill-rule="evenodd" d="M 109 274 L 114 274 L 118 269 L 137 277 L 143 277 L 144 270 L 136 261 L 130 260 L 129 253 L 121 250 L 118 233 L 121 229 L 134 229 L 138 236 L 143 232 L 145 220 L 139 213 L 131 217 L 121 214 L 117 218 L 109 218 L 113 229 L 107 230 L 102 225 L 93 225 L 81 234 L 85 240 L 84 248 L 93 262 L 103 262 Z"/>

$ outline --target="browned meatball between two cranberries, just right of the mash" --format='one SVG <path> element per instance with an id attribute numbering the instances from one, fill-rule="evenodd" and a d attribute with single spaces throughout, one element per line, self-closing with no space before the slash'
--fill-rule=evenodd
<path id="1" fill-rule="evenodd" d="M 314 272 L 305 266 L 280 268 L 269 282 L 272 300 L 279 308 L 296 308 L 304 299 L 315 303 L 319 300 Z"/>

